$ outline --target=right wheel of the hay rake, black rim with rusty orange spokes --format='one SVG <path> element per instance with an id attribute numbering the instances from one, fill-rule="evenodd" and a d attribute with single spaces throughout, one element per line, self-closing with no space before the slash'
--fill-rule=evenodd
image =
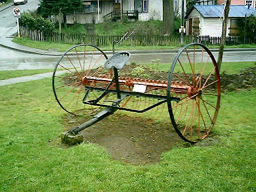
<path id="1" fill-rule="evenodd" d="M 177 91 L 173 84 L 187 91 Z M 171 96 L 180 102 L 171 101 Z M 220 76 L 208 48 L 192 43 L 180 49 L 168 74 L 167 98 L 172 124 L 183 140 L 194 143 L 208 136 L 220 107 Z"/>

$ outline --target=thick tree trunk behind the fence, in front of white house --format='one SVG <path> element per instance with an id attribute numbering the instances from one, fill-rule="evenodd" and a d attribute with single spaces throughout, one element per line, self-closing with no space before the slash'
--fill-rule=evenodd
<path id="1" fill-rule="evenodd" d="M 174 10 L 173 0 L 163 0 L 163 33 L 174 33 Z"/>

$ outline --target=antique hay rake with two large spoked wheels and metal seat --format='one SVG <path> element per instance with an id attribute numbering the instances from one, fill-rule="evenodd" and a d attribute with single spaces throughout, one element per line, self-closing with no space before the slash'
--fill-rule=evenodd
<path id="1" fill-rule="evenodd" d="M 76 45 L 61 56 L 52 77 L 58 104 L 74 115 L 98 112 L 64 138 L 117 110 L 127 116 L 143 113 L 143 120 L 149 122 L 172 122 L 178 135 L 190 143 L 206 138 L 220 108 L 220 76 L 210 50 L 199 43 L 182 47 L 166 77 L 158 80 L 125 76 L 122 71 L 131 66 L 126 65 L 129 57 L 129 52 L 119 52 L 108 58 L 89 44 Z M 163 118 L 165 114 L 169 117 Z"/>

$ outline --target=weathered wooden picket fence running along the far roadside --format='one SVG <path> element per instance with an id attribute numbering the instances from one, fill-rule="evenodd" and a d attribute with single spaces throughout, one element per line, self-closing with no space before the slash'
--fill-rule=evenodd
<path id="1" fill-rule="evenodd" d="M 47 33 L 36 30 L 29 30 L 23 26 L 20 27 L 20 34 L 22 37 L 30 38 L 37 41 L 52 41 L 72 44 L 93 44 L 96 46 L 109 46 L 113 44 L 114 40 L 120 41 L 122 45 L 131 46 L 177 46 L 181 44 L 180 36 L 166 36 L 166 35 L 131 35 L 126 38 L 123 36 L 98 36 L 94 34 L 79 34 L 79 33 Z M 205 45 L 219 45 L 221 37 L 210 36 L 184 36 L 184 44 L 191 42 L 199 42 Z M 242 36 L 228 36 L 226 38 L 227 45 L 256 43 L 256 37 L 245 38 Z"/>

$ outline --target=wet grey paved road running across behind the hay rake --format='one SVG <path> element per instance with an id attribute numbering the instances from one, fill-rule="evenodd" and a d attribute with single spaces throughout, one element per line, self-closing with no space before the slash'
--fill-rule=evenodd
<path id="1" fill-rule="evenodd" d="M 218 52 L 213 52 L 215 58 Z M 153 59 L 160 59 L 160 63 L 171 64 L 176 53 L 132 54 L 129 62 L 150 63 Z M 110 55 L 108 55 L 110 56 Z M 42 69 L 54 68 L 60 56 L 43 56 L 21 53 L 0 47 L 0 70 Z M 186 56 L 183 57 L 187 60 Z M 255 51 L 224 52 L 223 62 L 256 61 Z"/>

